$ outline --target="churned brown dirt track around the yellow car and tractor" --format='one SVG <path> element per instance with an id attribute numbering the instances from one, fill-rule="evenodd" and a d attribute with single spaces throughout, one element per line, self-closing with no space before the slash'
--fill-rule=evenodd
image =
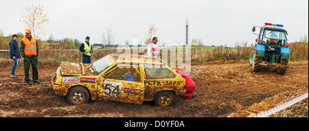
<path id="1" fill-rule="evenodd" d="M 290 62 L 289 66 L 295 68 L 285 75 L 268 70 L 251 72 L 249 63 L 239 61 L 192 66 L 196 98 L 177 98 L 170 107 L 112 101 L 71 106 L 65 97 L 56 96 L 50 85 L 56 68 L 39 67 L 41 84 L 28 86 L 23 66 L 16 69 L 19 78 L 14 79 L 9 76 L 12 68 L 6 67 L 0 69 L 0 117 L 247 117 L 237 113 L 281 93 L 308 92 L 308 61 Z M 30 70 L 30 78 L 31 74 Z"/>

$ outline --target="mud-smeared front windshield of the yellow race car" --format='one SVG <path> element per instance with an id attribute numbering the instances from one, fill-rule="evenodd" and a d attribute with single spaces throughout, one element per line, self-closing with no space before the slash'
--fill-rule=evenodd
<path id="1" fill-rule="evenodd" d="M 105 57 L 99 59 L 98 61 L 95 61 L 91 63 L 91 68 L 93 68 L 94 72 L 102 72 L 109 66 L 113 65 L 115 63 L 115 59 L 111 55 L 106 55 Z"/>

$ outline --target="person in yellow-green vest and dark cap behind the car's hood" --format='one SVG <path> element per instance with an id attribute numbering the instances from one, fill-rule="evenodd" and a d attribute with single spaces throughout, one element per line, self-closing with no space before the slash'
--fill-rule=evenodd
<path id="1" fill-rule="evenodd" d="M 89 40 L 90 38 L 87 36 L 86 41 L 82 42 L 80 45 L 80 52 L 82 52 L 82 63 L 91 63 L 91 53 L 93 53 L 93 51 Z"/>

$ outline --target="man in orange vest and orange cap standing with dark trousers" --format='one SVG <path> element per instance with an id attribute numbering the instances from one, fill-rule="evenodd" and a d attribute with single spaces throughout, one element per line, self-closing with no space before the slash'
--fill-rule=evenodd
<path id="1" fill-rule="evenodd" d="M 38 42 L 36 38 L 32 37 L 31 30 L 25 30 L 25 38 L 21 40 L 21 56 L 23 59 L 25 69 L 25 82 L 27 85 L 32 85 L 29 79 L 30 64 L 32 66 L 32 81 L 38 82 Z"/>

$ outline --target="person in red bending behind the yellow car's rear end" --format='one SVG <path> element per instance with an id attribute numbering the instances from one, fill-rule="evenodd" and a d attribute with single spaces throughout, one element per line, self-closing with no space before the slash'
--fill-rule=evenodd
<path id="1" fill-rule="evenodd" d="M 187 92 L 185 92 L 185 95 L 182 97 L 186 99 L 194 98 L 195 95 L 192 93 L 196 87 L 194 81 L 189 76 L 187 76 L 187 74 L 185 74 L 184 70 L 176 70 L 176 72 L 185 78 L 185 90 L 187 90 Z"/>

